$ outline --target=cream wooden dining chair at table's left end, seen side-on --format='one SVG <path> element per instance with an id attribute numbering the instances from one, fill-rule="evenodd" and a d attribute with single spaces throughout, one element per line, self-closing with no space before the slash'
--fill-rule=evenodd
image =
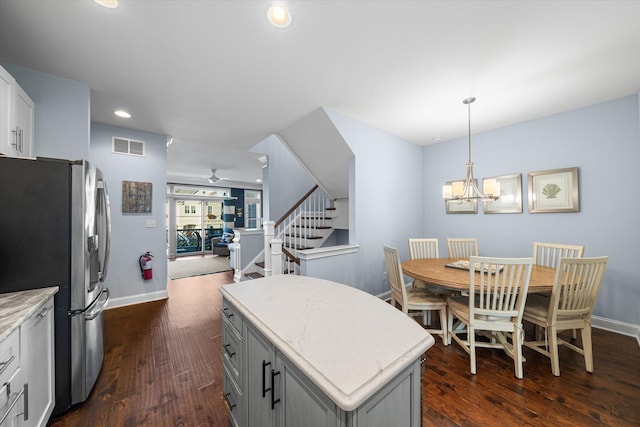
<path id="1" fill-rule="evenodd" d="M 427 313 L 438 311 L 440 314 L 440 329 L 427 329 L 427 332 L 442 337 L 444 345 L 449 344 L 447 337 L 447 301 L 432 294 L 424 288 L 407 287 L 404 282 L 402 265 L 398 249 L 384 246 L 384 260 L 387 267 L 387 279 L 391 288 L 391 305 L 400 305 L 402 312 L 411 315 L 411 312 L 422 312 L 425 328 L 429 324 Z"/>

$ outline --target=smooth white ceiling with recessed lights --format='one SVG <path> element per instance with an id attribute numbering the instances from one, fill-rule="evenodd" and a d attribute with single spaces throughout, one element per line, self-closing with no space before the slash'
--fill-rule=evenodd
<path id="1" fill-rule="evenodd" d="M 426 145 L 466 134 L 468 96 L 482 131 L 640 91 L 639 1 L 289 1 L 287 29 L 269 1 L 119 3 L 1 0 L 0 60 L 173 136 L 170 180 L 253 182 L 246 150 L 320 106 Z"/>

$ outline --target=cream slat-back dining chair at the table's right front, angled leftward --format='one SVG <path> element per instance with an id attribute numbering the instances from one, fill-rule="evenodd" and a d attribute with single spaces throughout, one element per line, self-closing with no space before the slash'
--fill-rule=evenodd
<path id="1" fill-rule="evenodd" d="M 523 320 L 544 329 L 544 339 L 524 345 L 551 359 L 551 372 L 560 375 L 558 345 L 565 345 L 584 356 L 587 372 L 593 372 L 591 348 L 591 314 L 602 283 L 608 257 L 561 258 L 551 296 L 531 295 L 524 308 Z M 581 331 L 582 348 L 560 339 L 567 329 Z"/>

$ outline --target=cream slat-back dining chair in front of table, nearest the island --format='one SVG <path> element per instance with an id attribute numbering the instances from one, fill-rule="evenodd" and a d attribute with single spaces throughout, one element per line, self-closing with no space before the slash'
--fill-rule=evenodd
<path id="1" fill-rule="evenodd" d="M 470 356 L 476 373 L 476 348 L 501 348 L 514 362 L 515 375 L 522 378 L 522 312 L 524 310 L 532 258 L 470 258 L 469 296 L 447 299 L 447 333 Z M 454 329 L 453 319 L 465 325 Z M 478 341 L 477 332 L 489 332 L 490 341 Z M 466 334 L 466 339 L 459 337 Z"/>

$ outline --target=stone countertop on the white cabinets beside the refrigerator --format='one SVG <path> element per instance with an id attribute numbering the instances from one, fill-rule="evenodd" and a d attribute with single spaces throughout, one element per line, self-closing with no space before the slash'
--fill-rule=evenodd
<path id="1" fill-rule="evenodd" d="M 58 287 L 30 289 L 0 294 L 0 341 L 5 339 L 29 316 L 44 307 Z"/>

